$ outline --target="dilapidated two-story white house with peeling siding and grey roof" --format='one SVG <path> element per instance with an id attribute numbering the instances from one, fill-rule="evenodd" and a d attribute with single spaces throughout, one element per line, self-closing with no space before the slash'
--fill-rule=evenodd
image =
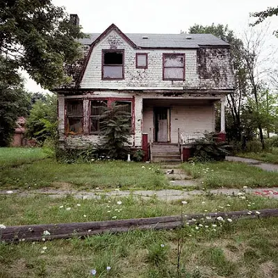
<path id="1" fill-rule="evenodd" d="M 215 131 L 219 102 L 224 140 L 224 99 L 235 85 L 227 42 L 211 34 L 125 34 L 115 24 L 80 42 L 83 57 L 66 66 L 72 83 L 56 89 L 60 147 L 97 142 L 99 115 L 114 102 L 131 112 L 130 145 L 145 159 L 186 160 L 193 140 Z"/>

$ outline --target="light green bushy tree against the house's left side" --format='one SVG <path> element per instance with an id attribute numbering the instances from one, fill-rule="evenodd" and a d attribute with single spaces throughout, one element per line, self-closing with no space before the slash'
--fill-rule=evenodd
<path id="1" fill-rule="evenodd" d="M 56 136 L 57 122 L 57 97 L 54 94 L 38 99 L 28 116 L 26 135 L 35 138 L 38 142 L 44 142 L 47 138 Z"/>

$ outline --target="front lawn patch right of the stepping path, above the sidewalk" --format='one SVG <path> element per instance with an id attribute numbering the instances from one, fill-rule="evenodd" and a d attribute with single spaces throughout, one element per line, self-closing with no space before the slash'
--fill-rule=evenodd
<path id="1" fill-rule="evenodd" d="M 201 179 L 202 188 L 271 187 L 278 185 L 278 173 L 266 172 L 245 163 L 183 163 L 183 169 Z"/>

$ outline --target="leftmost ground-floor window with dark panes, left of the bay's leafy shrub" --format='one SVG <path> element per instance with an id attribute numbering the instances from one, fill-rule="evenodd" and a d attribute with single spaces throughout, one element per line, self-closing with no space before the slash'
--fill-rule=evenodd
<path id="1" fill-rule="evenodd" d="M 67 101 L 67 133 L 83 133 L 83 101 Z"/>

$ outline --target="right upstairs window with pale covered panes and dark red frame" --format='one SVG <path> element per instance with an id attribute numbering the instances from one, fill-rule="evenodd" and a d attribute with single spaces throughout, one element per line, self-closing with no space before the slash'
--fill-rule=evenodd
<path id="1" fill-rule="evenodd" d="M 163 80 L 184 80 L 184 65 L 184 54 L 163 54 Z"/>

